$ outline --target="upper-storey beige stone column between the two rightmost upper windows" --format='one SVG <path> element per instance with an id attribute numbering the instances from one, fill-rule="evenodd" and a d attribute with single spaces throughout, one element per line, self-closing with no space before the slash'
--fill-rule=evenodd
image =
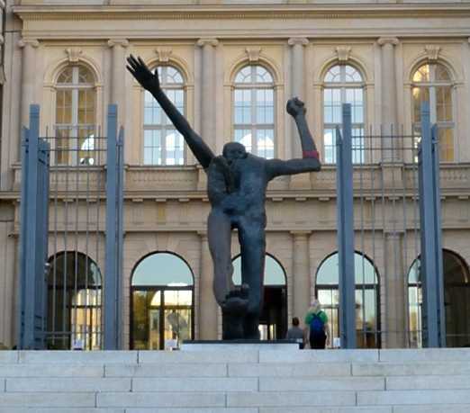
<path id="1" fill-rule="evenodd" d="M 382 125 L 384 134 L 390 135 L 393 130 L 398 129 L 396 110 L 396 73 L 395 73 L 395 46 L 399 40 L 396 37 L 381 37 L 377 43 L 382 48 Z M 383 161 L 393 161 L 393 141 L 383 139 L 384 158 Z"/>

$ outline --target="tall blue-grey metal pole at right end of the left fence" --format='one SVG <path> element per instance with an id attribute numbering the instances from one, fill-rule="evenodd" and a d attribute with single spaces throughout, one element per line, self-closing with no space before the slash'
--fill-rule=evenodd
<path id="1" fill-rule="evenodd" d="M 117 350 L 119 302 L 118 288 L 118 153 L 117 105 L 108 106 L 108 133 L 106 141 L 106 257 L 104 271 L 104 350 Z"/>

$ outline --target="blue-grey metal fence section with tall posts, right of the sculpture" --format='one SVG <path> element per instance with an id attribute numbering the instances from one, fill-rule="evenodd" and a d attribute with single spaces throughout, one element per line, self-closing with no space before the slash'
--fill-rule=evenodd
<path id="1" fill-rule="evenodd" d="M 353 136 L 350 107 L 343 107 L 337 130 L 343 347 L 445 346 L 437 130 L 427 106 L 421 119 L 419 135 L 370 128 Z"/>

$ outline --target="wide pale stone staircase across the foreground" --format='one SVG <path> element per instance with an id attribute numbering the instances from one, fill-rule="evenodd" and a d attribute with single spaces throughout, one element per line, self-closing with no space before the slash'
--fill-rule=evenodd
<path id="1" fill-rule="evenodd" d="M 469 413 L 470 349 L 0 351 L 0 413 Z"/>

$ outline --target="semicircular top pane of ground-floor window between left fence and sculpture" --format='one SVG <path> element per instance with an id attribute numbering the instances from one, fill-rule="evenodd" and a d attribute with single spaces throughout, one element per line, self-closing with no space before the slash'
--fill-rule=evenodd
<path id="1" fill-rule="evenodd" d="M 144 258 L 135 268 L 132 285 L 193 285 L 189 266 L 178 256 L 156 253 Z"/>

